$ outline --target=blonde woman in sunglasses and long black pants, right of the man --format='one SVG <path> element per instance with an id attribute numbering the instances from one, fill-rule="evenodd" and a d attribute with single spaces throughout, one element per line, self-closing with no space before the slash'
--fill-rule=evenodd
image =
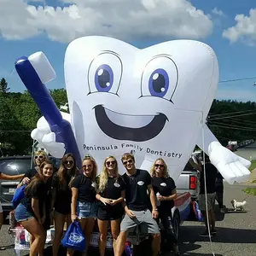
<path id="1" fill-rule="evenodd" d="M 172 230 L 172 207 L 174 207 L 174 199 L 177 197 L 176 185 L 169 177 L 165 160 L 159 158 L 154 161 L 151 170 L 152 186 L 159 201 L 159 218 L 165 229 L 168 243 L 172 243 L 175 255 L 180 255 L 178 251 L 177 238 Z"/>

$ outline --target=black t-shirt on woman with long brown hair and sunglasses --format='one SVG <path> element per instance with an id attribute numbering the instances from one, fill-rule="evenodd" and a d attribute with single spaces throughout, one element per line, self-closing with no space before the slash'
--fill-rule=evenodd
<path id="1" fill-rule="evenodd" d="M 55 210 L 56 212 L 71 212 L 71 199 L 72 199 L 72 192 L 68 184 L 70 183 L 72 176 L 66 175 L 66 186 L 63 188 L 60 184 L 60 177 L 58 173 L 52 178 L 52 187 L 56 189 L 55 195 Z"/>

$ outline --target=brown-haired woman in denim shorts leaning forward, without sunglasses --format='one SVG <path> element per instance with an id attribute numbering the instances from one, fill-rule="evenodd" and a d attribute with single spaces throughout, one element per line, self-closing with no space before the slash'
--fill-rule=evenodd
<path id="1" fill-rule="evenodd" d="M 15 209 L 16 220 L 34 237 L 30 256 L 37 256 L 39 252 L 44 251 L 46 235 L 43 225 L 46 219 L 47 180 L 52 177 L 53 168 L 53 164 L 48 160 L 41 164 L 38 173 L 26 186 L 25 197 Z M 40 206 L 43 207 L 40 209 Z"/>

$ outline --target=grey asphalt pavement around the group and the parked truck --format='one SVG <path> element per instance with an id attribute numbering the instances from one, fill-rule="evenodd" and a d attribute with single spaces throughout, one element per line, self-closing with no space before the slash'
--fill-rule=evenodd
<path id="1" fill-rule="evenodd" d="M 252 185 L 253 186 L 253 185 Z M 247 195 L 241 190 L 247 185 L 224 183 L 224 204 L 230 210 L 222 215 L 217 214 L 217 236 L 212 237 L 212 246 L 207 237 L 198 236 L 204 230 L 204 224 L 198 221 L 185 221 L 180 230 L 180 251 L 182 255 L 210 256 L 256 256 L 256 197 Z M 246 212 L 234 212 L 230 201 L 247 201 Z M 1 256 L 12 256 L 14 253 L 14 238 L 9 236 L 8 225 L 3 225 L 0 231 Z M 28 255 L 20 252 L 20 256 Z M 49 250 L 45 253 L 50 255 Z M 89 254 L 95 255 L 95 253 Z M 168 256 L 173 255 L 168 253 Z M 167 256 L 166 255 L 166 256 Z"/>

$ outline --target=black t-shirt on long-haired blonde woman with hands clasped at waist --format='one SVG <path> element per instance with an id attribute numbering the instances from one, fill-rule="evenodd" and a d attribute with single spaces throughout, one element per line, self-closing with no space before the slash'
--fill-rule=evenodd
<path id="1" fill-rule="evenodd" d="M 125 182 L 122 177 L 108 177 L 106 188 L 100 192 L 99 195 L 108 199 L 116 200 L 121 197 L 121 192 L 123 190 L 125 190 Z M 120 211 L 122 209 L 122 202 L 119 202 L 114 206 L 105 206 L 102 201 L 100 201 L 99 207 L 106 211 Z"/>

